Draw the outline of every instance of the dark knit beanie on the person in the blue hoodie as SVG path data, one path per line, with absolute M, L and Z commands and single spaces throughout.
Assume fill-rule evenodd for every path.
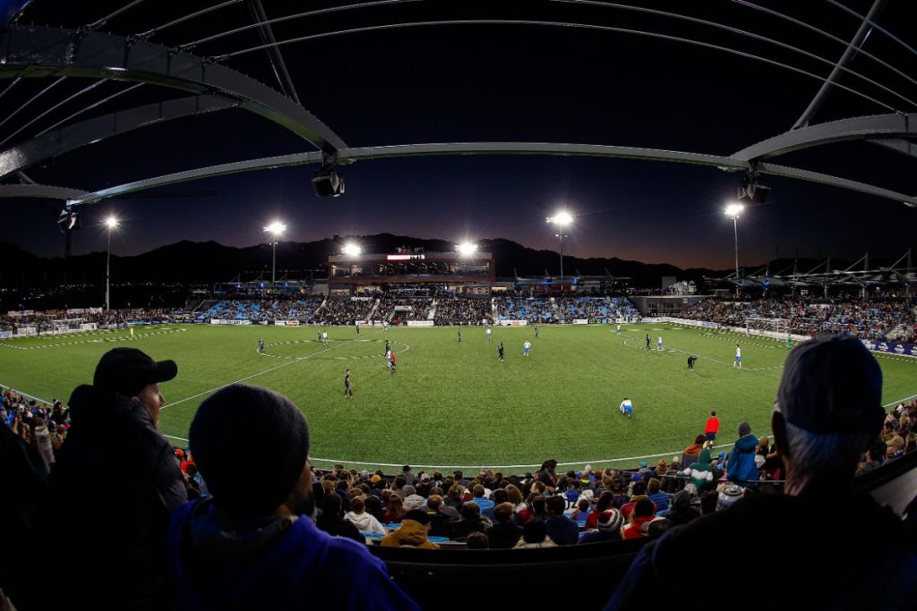
M 268 516 L 293 491 L 309 455 L 309 425 L 293 401 L 234 384 L 207 398 L 189 445 L 214 503 L 233 519 Z M 258 453 L 247 451 L 257 444 Z

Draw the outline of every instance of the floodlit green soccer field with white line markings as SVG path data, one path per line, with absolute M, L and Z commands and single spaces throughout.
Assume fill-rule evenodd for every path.
M 390 470 L 402 464 L 493 466 L 530 470 L 547 458 L 560 463 L 635 464 L 640 457 L 679 454 L 703 431 L 711 409 L 735 441 L 739 422 L 769 434 L 786 344 L 758 337 L 663 323 L 613 326 L 484 328 L 328 328 L 163 325 L 127 330 L 0 341 L 0 385 L 37 398 L 69 398 L 91 383 L 95 364 L 115 346 L 136 346 L 171 358 L 179 375 L 163 385 L 160 430 L 185 445 L 200 402 L 237 381 L 270 387 L 305 412 L 315 464 Z M 645 336 L 651 337 L 651 351 Z M 662 335 L 664 349 L 656 350 Z M 257 352 L 258 340 L 267 344 Z M 523 357 L 523 343 L 532 342 Z M 385 366 L 385 340 L 397 372 Z M 497 358 L 503 341 L 506 356 Z M 735 344 L 743 367 L 733 368 Z M 689 354 L 698 356 L 694 371 Z M 917 394 L 917 360 L 879 355 L 883 402 Z M 344 398 L 350 368 L 355 398 Z M 634 417 L 618 413 L 629 397 Z M 250 452 L 257 447 L 252 439 Z M 253 454 L 253 458 L 255 455 Z M 624 459 L 624 460 L 622 460 Z

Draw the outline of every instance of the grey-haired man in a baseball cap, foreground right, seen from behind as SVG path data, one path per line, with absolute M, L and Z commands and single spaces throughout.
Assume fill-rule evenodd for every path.
M 646 606 L 648 592 L 654 606 L 683 605 L 684 592 L 667 588 L 668 577 L 683 571 L 685 558 L 697 550 L 739 541 L 766 541 L 779 555 L 779 587 L 757 588 L 746 606 L 913 608 L 913 588 L 902 587 L 917 583 L 913 533 L 889 507 L 854 490 L 860 456 L 882 430 L 881 398 L 882 371 L 855 337 L 824 336 L 794 348 L 770 420 L 786 467 L 783 494 L 745 496 L 650 541 L 606 611 Z M 817 518 L 806 521 L 801 536 L 806 517 Z M 716 581 L 743 583 L 774 562 L 773 554 L 746 553 L 740 562 L 718 564 Z

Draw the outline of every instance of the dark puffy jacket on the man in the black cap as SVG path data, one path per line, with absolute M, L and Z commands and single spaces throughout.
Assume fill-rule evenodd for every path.
M 134 399 L 92 386 L 70 398 L 71 427 L 49 478 L 52 595 L 77 608 L 159 609 L 168 596 L 169 514 L 187 498 L 171 444 Z M 90 552 L 91 550 L 91 552 Z M 105 559 L 105 570 L 86 562 Z

